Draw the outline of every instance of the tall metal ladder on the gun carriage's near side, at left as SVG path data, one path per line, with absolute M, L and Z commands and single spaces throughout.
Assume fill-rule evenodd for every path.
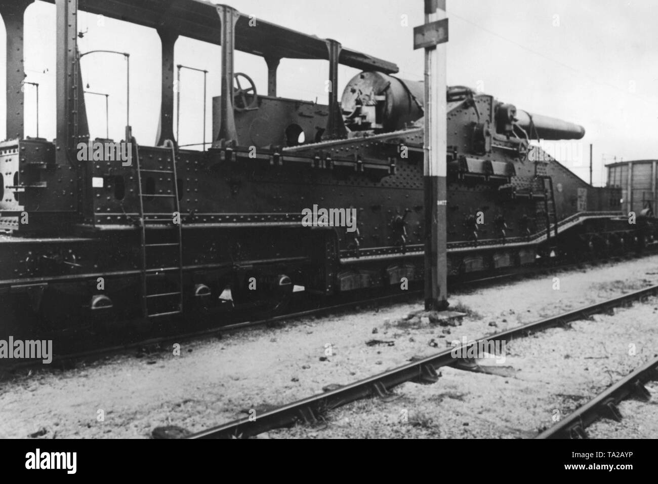
M 180 314 L 183 312 L 183 248 L 182 248 L 182 221 L 180 221 L 180 205 L 178 203 L 178 177 L 176 176 L 176 151 L 170 140 L 164 146 L 171 148 L 171 167 L 168 170 L 143 169 L 139 160 L 139 147 L 136 143 L 135 158 L 139 186 L 139 246 L 141 251 L 141 312 L 145 318 L 162 317 Z M 142 175 L 155 173 L 170 175 L 172 177 L 172 190 L 170 194 L 144 194 Z M 174 211 L 178 213 L 179 223 L 174 223 L 174 213 L 145 212 L 144 200 L 153 197 L 171 198 L 174 201 Z M 147 215 L 152 215 L 147 219 Z M 171 227 L 171 226 L 174 227 Z M 163 227 L 164 226 L 164 227 Z M 166 227 L 169 226 L 169 227 Z M 162 242 L 164 233 L 171 234 L 173 240 Z M 157 234 L 157 242 L 149 240 L 149 235 Z M 150 254 L 166 251 L 176 252 L 178 259 L 167 267 L 149 267 Z M 167 278 L 168 275 L 172 277 Z M 166 282 L 159 284 L 159 282 Z M 165 289 L 163 290 L 163 286 Z

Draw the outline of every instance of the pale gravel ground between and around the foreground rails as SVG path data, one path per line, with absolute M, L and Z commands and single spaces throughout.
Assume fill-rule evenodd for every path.
M 201 431 L 433 354 L 453 339 L 478 338 L 656 283 L 658 256 L 645 257 L 452 294 L 451 304 L 467 312 L 456 327 L 400 323 L 421 308 L 418 300 L 185 342 L 180 356 L 173 350 L 113 356 L 68 371 L 17 375 L 0 382 L 0 437 L 147 438 L 163 425 Z M 531 437 L 551 424 L 554 410 L 568 413 L 655 352 L 655 307 L 651 299 L 573 323 L 572 331 L 511 342 L 500 365 L 508 376 L 442 368 L 438 383 L 405 383 L 396 389 L 403 396 L 390 404 L 363 400 L 334 410 L 324 430 L 294 427 L 269 435 Z M 626 355 L 628 344 L 636 345 L 634 358 Z

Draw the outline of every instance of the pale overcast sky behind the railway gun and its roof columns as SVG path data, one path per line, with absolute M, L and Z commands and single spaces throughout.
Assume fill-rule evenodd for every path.
M 218 2 L 213 2 L 218 3 Z M 333 38 L 343 46 L 396 63 L 400 78 L 422 79 L 423 54 L 413 50 L 413 27 L 423 23 L 422 0 L 234 0 L 229 5 L 299 32 Z M 567 147 L 547 146 L 576 175 L 589 178 L 594 146 L 594 184 L 604 163 L 658 158 L 658 35 L 654 0 L 447 0 L 447 82 L 513 103 L 530 113 L 576 122 L 585 137 Z M 130 53 L 130 124 L 141 144 L 153 144 L 160 109 L 160 40 L 155 30 L 82 13 L 81 52 Z M 55 6 L 37 0 L 26 12 L 26 81 L 39 83 L 39 135 L 55 137 Z M 179 38 L 175 63 L 209 70 L 207 140 L 211 97 L 220 93 L 220 47 Z M 0 26 L 0 65 L 5 28 Z M 266 94 L 265 61 L 238 53 L 245 72 Z M 339 93 L 359 71 L 339 70 Z M 82 59 L 87 90 L 109 94 L 109 134 L 122 138 L 126 122 L 126 61 L 120 55 Z M 326 61 L 284 59 L 278 95 L 326 103 Z M 0 73 L 0 89 L 5 76 Z M 26 86 L 26 135 L 36 136 L 36 92 Z M 180 144 L 203 136 L 203 74 L 182 71 Z M 105 137 L 105 97 L 86 95 L 92 137 Z M 5 113 L 5 99 L 0 99 Z M 176 128 L 174 128 L 175 130 Z M 0 117 L 0 136 L 5 117 Z M 559 155 L 563 155 L 560 157 Z

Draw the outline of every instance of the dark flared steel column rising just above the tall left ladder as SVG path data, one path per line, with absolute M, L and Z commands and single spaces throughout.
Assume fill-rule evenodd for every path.
M 162 94 L 155 146 L 163 146 L 165 140 L 178 144 L 178 139 L 174 138 L 174 45 L 178 34 L 166 28 L 159 28 L 157 32 L 162 45 Z

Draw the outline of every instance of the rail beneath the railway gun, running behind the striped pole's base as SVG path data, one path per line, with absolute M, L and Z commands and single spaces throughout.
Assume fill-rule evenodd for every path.
M 653 244 L 643 254 L 653 255 L 658 254 L 658 244 Z M 619 261 L 624 261 L 627 259 L 634 259 L 638 257 L 637 255 L 619 255 L 615 257 L 602 257 L 600 259 L 590 259 L 588 261 L 575 262 L 575 263 L 555 263 L 548 264 L 540 267 L 528 266 L 517 268 L 517 270 L 509 273 L 494 273 L 486 274 L 484 277 L 478 277 L 476 279 L 468 280 L 455 280 L 453 284 L 456 288 L 473 288 L 479 286 L 488 286 L 495 282 L 501 281 L 513 281 L 518 279 L 523 279 L 525 277 L 537 277 L 542 276 L 547 273 L 554 273 L 555 271 L 569 271 L 573 269 L 581 269 L 582 267 L 595 267 L 596 265 L 601 265 L 603 263 L 615 263 Z M 131 352 L 134 350 L 144 350 L 145 352 L 157 351 L 159 348 L 164 346 L 170 346 L 174 343 L 180 343 L 190 340 L 195 340 L 198 338 L 206 338 L 210 336 L 224 335 L 227 333 L 234 333 L 243 329 L 266 326 L 266 325 L 276 325 L 284 321 L 293 321 L 301 317 L 309 316 L 321 316 L 330 313 L 338 313 L 340 311 L 348 311 L 359 306 L 368 306 L 370 304 L 395 304 L 396 302 L 401 302 L 403 300 L 412 299 L 414 297 L 419 297 L 422 295 L 422 290 L 410 289 L 404 293 L 399 294 L 387 294 L 386 296 L 378 296 L 374 298 L 350 300 L 349 302 L 342 302 L 340 304 L 332 304 L 330 306 L 320 306 L 318 308 L 311 309 L 302 309 L 299 311 L 293 311 L 291 313 L 285 313 L 281 315 L 276 315 L 272 317 L 265 317 L 261 319 L 254 319 L 252 321 L 238 321 L 236 323 L 230 323 L 228 325 L 221 325 L 206 329 L 199 329 L 197 331 L 188 331 L 186 333 L 178 333 L 175 335 L 167 334 L 163 336 L 150 337 L 146 339 L 140 339 L 131 341 L 124 344 L 115 344 L 112 346 L 104 346 L 101 348 L 93 348 L 91 350 L 84 350 L 80 352 L 70 352 L 66 354 L 59 354 L 53 357 L 53 362 L 51 367 L 66 369 L 70 367 L 75 362 L 80 361 L 92 361 L 105 356 L 111 356 L 114 354 L 121 354 L 124 352 Z M 19 369 L 43 369 L 43 365 L 36 361 L 22 361 L 18 363 L 11 363 L 11 365 L 0 365 L 0 378 L 3 377 L 3 373 L 12 373 Z

